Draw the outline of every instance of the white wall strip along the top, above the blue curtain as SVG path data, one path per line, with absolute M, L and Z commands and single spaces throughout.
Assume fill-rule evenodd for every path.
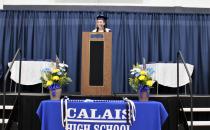
M 130 5 L 210 8 L 210 0 L 2 0 L 5 5 Z

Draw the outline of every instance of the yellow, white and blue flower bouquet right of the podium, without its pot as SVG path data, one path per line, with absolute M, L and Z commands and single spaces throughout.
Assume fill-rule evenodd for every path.
M 141 91 L 143 88 L 146 90 L 152 88 L 152 85 L 155 82 L 152 79 L 152 74 L 154 73 L 152 68 L 146 68 L 137 63 L 136 65 L 133 65 L 130 72 L 131 77 L 129 78 L 129 84 L 136 92 L 138 90 Z

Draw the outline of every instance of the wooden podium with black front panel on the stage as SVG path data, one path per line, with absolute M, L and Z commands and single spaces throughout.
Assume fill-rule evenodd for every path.
M 112 33 L 82 34 L 82 95 L 111 95 Z

